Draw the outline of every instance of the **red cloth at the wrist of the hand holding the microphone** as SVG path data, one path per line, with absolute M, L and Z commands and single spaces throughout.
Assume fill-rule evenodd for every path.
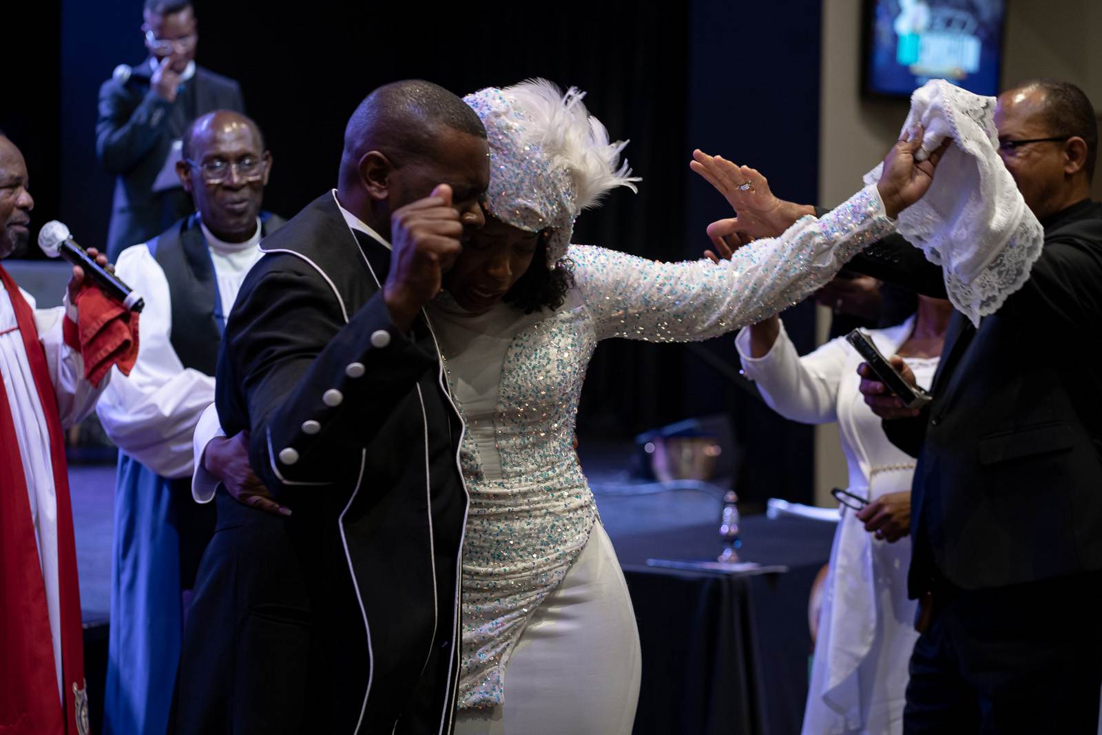
M 65 344 L 84 358 L 84 377 L 99 387 L 112 365 L 122 375 L 138 359 L 138 312 L 132 312 L 94 285 L 85 285 L 76 294 L 77 320 L 65 318 Z

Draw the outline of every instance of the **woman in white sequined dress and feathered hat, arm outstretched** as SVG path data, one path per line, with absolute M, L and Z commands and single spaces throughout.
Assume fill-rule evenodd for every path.
M 428 309 L 466 425 L 462 735 L 631 729 L 638 634 L 571 445 L 597 342 L 705 339 L 775 314 L 892 231 L 937 159 L 916 164 L 904 141 L 878 185 L 821 219 L 721 264 L 659 263 L 569 245 L 583 208 L 636 181 L 580 99 L 539 80 L 466 98 L 489 137 L 486 227 Z

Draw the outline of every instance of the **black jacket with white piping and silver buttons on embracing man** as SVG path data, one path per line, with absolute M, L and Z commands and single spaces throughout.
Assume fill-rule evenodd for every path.
M 181 733 L 449 733 L 466 494 L 428 323 L 396 329 L 390 251 L 333 193 L 264 238 L 217 406 L 289 506 L 219 490 L 185 631 Z

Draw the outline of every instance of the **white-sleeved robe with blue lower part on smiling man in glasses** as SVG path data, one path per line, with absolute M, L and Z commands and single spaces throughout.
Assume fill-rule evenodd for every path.
M 224 242 L 199 223 L 216 282 L 216 318 L 228 314 L 249 269 L 262 253 L 258 220 L 244 242 Z M 162 236 L 162 238 L 165 236 Z M 181 515 L 172 480 L 193 469 L 192 435 L 214 401 L 215 376 L 185 367 L 173 346 L 170 280 L 155 244 L 127 248 L 119 277 L 145 299 L 138 361 L 116 375 L 97 411 L 120 450 L 115 494 L 111 635 L 105 692 L 105 735 L 164 732 L 183 637 L 182 560 L 199 539 Z M 179 273 L 173 275 L 179 277 Z M 186 564 L 183 564 L 186 565 Z

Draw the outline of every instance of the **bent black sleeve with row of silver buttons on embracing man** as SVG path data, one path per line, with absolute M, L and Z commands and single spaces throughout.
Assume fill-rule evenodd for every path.
M 293 270 L 246 282 L 224 345 L 247 403 L 249 458 L 277 494 L 358 469 L 361 448 L 395 407 L 439 369 L 434 354 L 393 326 L 381 291 L 345 324 L 321 279 Z

